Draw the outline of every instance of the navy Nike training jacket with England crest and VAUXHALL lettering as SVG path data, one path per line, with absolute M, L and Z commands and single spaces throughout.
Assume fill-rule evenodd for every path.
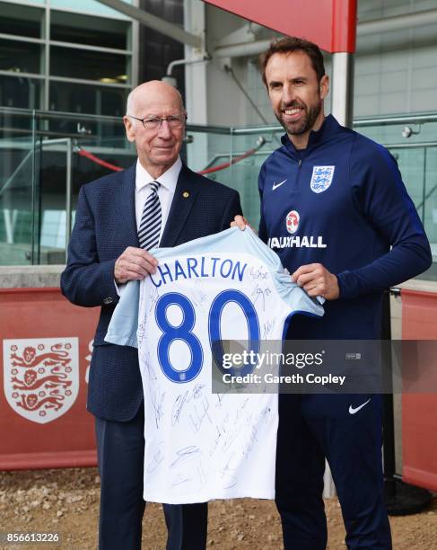
M 289 339 L 380 338 L 382 291 L 427 270 L 424 226 L 387 149 L 329 115 L 303 151 L 289 137 L 261 167 L 259 236 L 293 273 L 322 263 L 340 297 Z

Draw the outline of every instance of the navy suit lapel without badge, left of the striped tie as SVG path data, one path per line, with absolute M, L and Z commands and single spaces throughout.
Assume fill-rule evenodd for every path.
M 122 181 L 119 184 L 118 215 L 121 236 L 126 246 L 139 246 L 138 232 L 136 230 L 135 218 L 135 174 L 136 164 L 127 168 L 121 175 Z

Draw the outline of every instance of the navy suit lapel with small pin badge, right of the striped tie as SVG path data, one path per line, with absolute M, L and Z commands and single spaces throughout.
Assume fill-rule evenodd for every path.
M 169 217 L 162 234 L 160 244 L 162 247 L 176 244 L 180 232 L 187 223 L 188 214 L 197 199 L 198 185 L 194 178 L 190 177 L 190 173 L 191 171 L 183 164 L 176 184 L 176 191 L 171 201 Z

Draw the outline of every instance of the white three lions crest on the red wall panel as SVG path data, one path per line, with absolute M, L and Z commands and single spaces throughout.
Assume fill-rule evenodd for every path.
M 65 414 L 79 391 L 77 338 L 4 340 L 4 395 L 15 412 L 45 424 Z

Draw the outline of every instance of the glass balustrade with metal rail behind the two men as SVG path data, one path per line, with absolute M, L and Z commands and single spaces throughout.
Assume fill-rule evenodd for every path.
M 397 157 L 430 240 L 437 243 L 437 113 L 358 119 L 354 128 L 387 146 Z M 283 131 L 276 124 L 239 128 L 188 123 L 183 154 L 197 170 L 229 164 L 218 172 L 219 178 L 240 191 L 243 208 L 252 212 L 253 218 L 258 212 L 254 181 L 259 165 L 278 146 Z M 255 150 L 257 139 L 263 143 Z M 48 262 L 48 253 L 53 251 L 41 235 L 45 235 L 44 217 L 50 209 L 65 212 L 62 231 L 59 227 L 51 230 L 61 232 L 64 243 L 68 240 L 81 184 L 107 173 L 87 158 L 80 159 L 75 154 L 77 145 L 109 164 L 127 167 L 135 160 L 135 149 L 127 142 L 118 117 L 0 108 L 0 263 L 15 262 L 9 245 L 26 251 L 23 263 Z M 253 154 L 245 155 L 251 148 Z M 239 156 L 243 159 L 235 164 Z M 58 178 L 61 170 L 64 185 Z M 62 252 L 59 242 L 53 249 Z

